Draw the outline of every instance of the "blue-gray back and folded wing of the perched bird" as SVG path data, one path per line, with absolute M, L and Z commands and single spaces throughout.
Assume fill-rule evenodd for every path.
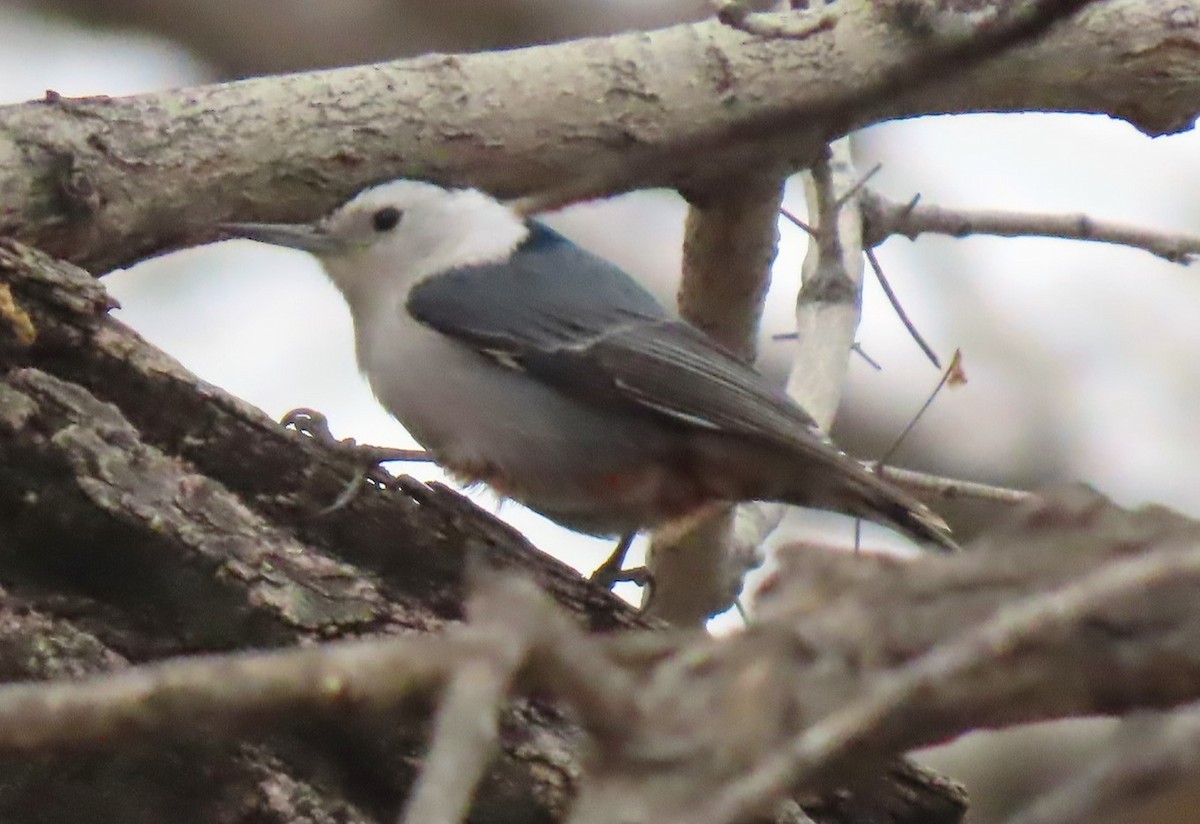
M 506 263 L 425 281 L 407 308 L 498 363 L 593 403 L 790 445 L 824 441 L 774 384 L 672 319 L 620 269 L 538 223 Z

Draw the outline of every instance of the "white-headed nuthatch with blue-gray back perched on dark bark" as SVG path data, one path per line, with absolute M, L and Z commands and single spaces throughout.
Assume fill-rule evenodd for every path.
M 476 188 L 394 180 L 314 223 L 227 223 L 341 291 L 379 403 L 452 477 L 619 537 L 769 500 L 952 549 L 928 506 L 630 275 Z

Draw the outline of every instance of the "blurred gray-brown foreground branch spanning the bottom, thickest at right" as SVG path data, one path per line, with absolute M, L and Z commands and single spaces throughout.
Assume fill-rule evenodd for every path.
M 574 705 L 599 751 L 581 776 L 572 822 L 726 824 L 980 726 L 1200 696 L 1200 619 L 1192 608 L 1200 523 L 1153 507 L 1122 511 L 1075 488 L 1042 495 L 973 549 L 896 563 L 797 547 L 766 590 L 762 624 L 724 639 L 590 639 L 528 584 L 499 577 L 481 591 L 492 605 L 485 620 L 419 639 L 427 646 L 420 656 L 407 654 L 414 642 L 383 639 L 160 664 L 54 685 L 61 692 L 47 702 L 31 699 L 35 687 L 2 687 L 0 742 L 20 741 L 30 727 L 66 742 L 65 721 L 80 708 L 91 717 L 132 710 L 151 718 L 140 735 L 191 727 L 221 715 L 220 706 L 241 721 L 314 704 L 382 708 L 427 678 L 409 673 L 446 679 L 491 660 L 498 619 L 510 617 L 510 650 L 528 644 L 530 652 L 523 688 Z M 580 655 L 580 646 L 590 649 Z M 408 649 L 397 657 L 389 648 Z M 329 668 L 313 669 L 322 658 Z M 391 666 L 368 663 L 376 658 Z M 612 723 L 596 694 L 630 702 L 626 723 Z M 202 703 L 187 714 L 184 697 Z M 173 723 L 155 716 L 162 708 Z M 89 729 L 82 726 L 79 738 Z

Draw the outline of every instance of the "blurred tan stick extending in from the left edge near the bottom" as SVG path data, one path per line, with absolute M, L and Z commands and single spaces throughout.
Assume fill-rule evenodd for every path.
M 198 723 L 235 729 L 259 716 L 372 709 L 425 694 L 485 651 L 463 632 L 316 649 L 167 661 L 88 681 L 0 687 L 0 750 L 34 752 Z

